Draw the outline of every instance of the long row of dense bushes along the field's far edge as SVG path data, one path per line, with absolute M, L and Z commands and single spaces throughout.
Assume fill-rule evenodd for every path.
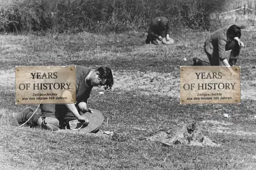
M 2 3 L 0 30 L 122 32 L 146 29 L 156 16 L 172 27 L 211 28 L 210 14 L 228 0 L 11 0 Z M 216 22 L 214 22 L 216 23 Z

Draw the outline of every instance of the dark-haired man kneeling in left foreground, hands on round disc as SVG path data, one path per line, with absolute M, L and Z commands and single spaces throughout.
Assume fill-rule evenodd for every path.
M 112 71 L 108 67 L 90 69 L 76 66 L 76 104 L 40 104 L 41 115 L 33 115 L 33 109 L 26 108 L 13 118 L 12 125 L 20 126 L 28 120 L 27 124 L 30 127 L 59 130 L 70 129 L 70 122 L 74 122 L 74 120 L 77 120 L 77 124 L 79 122 L 88 124 L 88 118 L 80 113 L 91 112 L 93 114 L 94 112 L 87 107 L 92 88 L 104 86 L 106 90 L 111 89 L 113 84 Z M 71 95 L 71 92 L 66 90 L 63 94 L 67 96 Z

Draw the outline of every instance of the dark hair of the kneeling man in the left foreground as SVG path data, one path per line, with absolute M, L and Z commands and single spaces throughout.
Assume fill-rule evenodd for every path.
M 96 69 L 96 71 L 99 71 L 99 78 L 106 79 L 106 83 L 104 86 L 104 89 L 111 89 L 114 84 L 114 79 L 112 75 L 112 71 L 109 67 L 99 67 Z

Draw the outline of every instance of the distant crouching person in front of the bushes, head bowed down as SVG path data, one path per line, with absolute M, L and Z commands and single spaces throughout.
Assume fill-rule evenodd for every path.
M 171 31 L 169 21 L 166 17 L 156 17 L 151 21 L 150 28 L 147 31 L 146 43 L 150 44 L 172 44 L 174 40 L 169 37 Z

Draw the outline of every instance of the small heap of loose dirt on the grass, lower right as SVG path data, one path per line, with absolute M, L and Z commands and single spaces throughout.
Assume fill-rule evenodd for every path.
M 170 131 L 159 131 L 157 134 L 147 139 L 160 141 L 163 145 L 185 144 L 197 145 L 200 147 L 220 147 L 220 144 L 211 141 L 207 136 L 203 135 L 200 126 L 194 120 L 184 124 L 173 133 Z

